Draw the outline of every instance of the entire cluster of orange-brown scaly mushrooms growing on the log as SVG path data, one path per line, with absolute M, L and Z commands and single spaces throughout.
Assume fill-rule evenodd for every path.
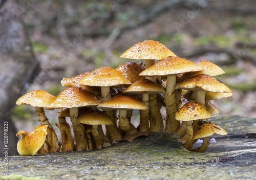
M 219 113 L 210 100 L 232 95 L 225 84 L 211 77 L 224 73 L 219 66 L 178 57 L 154 40 L 139 42 L 120 57 L 145 59 L 145 64 L 126 62 L 116 69 L 104 66 L 63 78 L 61 84 L 66 88 L 56 97 L 42 90 L 20 97 L 16 104 L 34 106 L 41 125 L 29 133 L 17 133 L 22 134 L 18 152 L 34 155 L 101 149 L 118 143 L 124 136 L 157 131 L 177 133 L 187 150 L 204 152 L 212 134 L 227 134 L 219 125 L 207 121 Z M 165 118 L 160 112 L 162 107 L 166 109 Z M 60 142 L 44 108 L 59 109 L 56 126 Z M 133 109 L 140 111 L 138 127 L 131 122 Z M 66 117 L 71 120 L 73 136 Z M 199 138 L 204 140 L 202 146 L 193 149 Z

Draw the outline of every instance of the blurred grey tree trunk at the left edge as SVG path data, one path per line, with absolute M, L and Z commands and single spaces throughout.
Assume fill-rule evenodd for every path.
M 0 144 L 3 147 L 3 121 L 8 121 L 8 146 L 16 144 L 15 127 L 8 119 L 16 100 L 39 73 L 40 68 L 31 49 L 21 16 L 22 4 L 0 0 Z M 12 133 L 11 133 L 12 132 Z M 13 135 L 13 136 L 11 136 Z M 15 147 L 15 146 L 14 146 Z M 15 154 L 16 148 L 9 150 Z M 1 150 L 3 153 L 3 150 Z M 3 156 L 3 154 L 0 154 Z

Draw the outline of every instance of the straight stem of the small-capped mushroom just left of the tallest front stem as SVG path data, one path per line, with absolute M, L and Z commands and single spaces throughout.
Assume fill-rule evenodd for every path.
M 146 110 L 140 110 L 140 125 L 139 131 L 140 132 L 148 132 L 150 126 L 148 124 L 149 120 L 149 109 L 150 109 L 150 98 L 148 94 L 141 95 L 141 101 L 147 106 Z

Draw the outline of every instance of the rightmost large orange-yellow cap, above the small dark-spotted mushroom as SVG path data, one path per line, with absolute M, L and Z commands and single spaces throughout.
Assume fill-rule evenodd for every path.
M 177 83 L 175 88 L 182 88 L 190 91 L 204 90 L 217 93 L 231 93 L 228 86 L 217 79 L 204 74 L 199 74 L 197 76 L 185 79 L 184 81 Z

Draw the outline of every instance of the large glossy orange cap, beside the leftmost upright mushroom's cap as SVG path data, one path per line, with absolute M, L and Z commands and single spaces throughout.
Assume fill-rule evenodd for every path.
M 68 87 L 61 91 L 48 108 L 71 108 L 98 105 L 101 102 L 81 87 Z

